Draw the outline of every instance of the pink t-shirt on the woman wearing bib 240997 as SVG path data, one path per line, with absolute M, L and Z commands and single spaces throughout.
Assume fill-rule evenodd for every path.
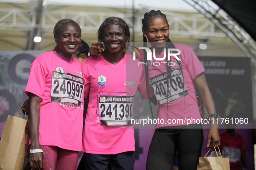
M 81 151 L 84 106 L 83 91 L 80 88 L 83 85 L 81 63 L 73 58 L 69 62 L 64 59 L 55 51 L 39 55 L 31 65 L 26 94 L 30 92 L 42 98 L 39 113 L 40 145 Z M 58 79 L 61 75 L 65 79 Z M 81 80 L 81 83 L 75 82 L 73 77 Z M 75 86 L 79 86 L 79 90 Z M 51 102 L 53 93 L 56 100 L 58 99 L 56 94 L 70 93 L 72 95 L 74 93 L 72 87 L 75 89 L 75 95 L 82 98 L 80 107 L 73 103 Z

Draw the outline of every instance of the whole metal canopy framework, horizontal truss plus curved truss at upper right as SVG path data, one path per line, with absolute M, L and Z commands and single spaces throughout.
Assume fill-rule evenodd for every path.
M 231 39 L 256 66 L 255 41 L 237 22 L 211 0 L 184 1 L 197 9 L 199 14 L 191 11 L 162 10 L 168 19 L 170 33 L 173 37 L 195 38 L 198 41 Z M 49 10 L 47 4 L 42 4 L 43 2 L 33 0 L 30 9 L 0 8 L 0 30 L 27 31 L 27 50 L 33 50 L 35 49 L 35 45 L 31 42 L 33 37 L 42 35 L 44 38 L 43 33 L 52 32 L 55 23 L 60 19 L 71 18 L 78 22 L 84 33 L 95 33 L 104 19 L 117 16 L 125 20 L 131 32 L 134 31 L 135 35 L 141 35 L 141 19 L 143 14 L 149 11 L 147 8 L 130 10 L 132 13 Z

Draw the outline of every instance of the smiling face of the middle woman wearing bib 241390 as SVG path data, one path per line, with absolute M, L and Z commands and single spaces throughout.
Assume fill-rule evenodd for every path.
M 123 52 L 125 44 L 125 34 L 123 29 L 116 24 L 109 24 L 103 31 L 104 44 L 107 47 L 107 52 L 117 53 Z

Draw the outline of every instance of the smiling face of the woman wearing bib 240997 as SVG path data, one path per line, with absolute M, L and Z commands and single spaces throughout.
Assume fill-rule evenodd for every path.
M 60 27 L 58 35 L 55 35 L 55 42 L 58 43 L 58 54 L 71 58 L 81 44 L 81 32 L 78 25 L 70 23 Z

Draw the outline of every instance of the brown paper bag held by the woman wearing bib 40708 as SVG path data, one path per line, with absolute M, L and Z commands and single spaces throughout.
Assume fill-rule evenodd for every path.
M 211 151 L 211 149 L 209 151 Z M 207 152 L 207 154 L 209 153 L 209 151 Z M 199 164 L 197 170 L 230 170 L 229 158 L 222 158 L 221 156 L 206 157 L 206 155 L 204 157 L 199 157 Z

